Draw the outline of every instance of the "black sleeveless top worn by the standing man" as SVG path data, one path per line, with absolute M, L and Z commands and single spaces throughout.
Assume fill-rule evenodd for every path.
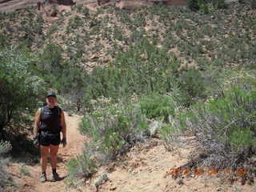
M 43 106 L 41 108 L 41 125 L 39 130 L 47 130 L 51 134 L 58 134 L 62 130 L 60 124 L 61 113 L 62 109 L 58 106 L 54 106 L 54 108 Z

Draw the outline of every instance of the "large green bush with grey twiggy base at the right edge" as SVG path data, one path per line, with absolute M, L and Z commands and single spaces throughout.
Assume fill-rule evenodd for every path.
M 187 143 L 204 150 L 202 166 L 216 169 L 237 168 L 255 154 L 255 80 L 246 79 L 223 90 L 221 98 L 194 106 L 177 116 L 166 134 L 166 141 Z M 186 114 L 186 115 L 185 115 Z M 166 131 L 166 130 L 165 130 Z M 184 139 L 184 133 L 193 139 Z

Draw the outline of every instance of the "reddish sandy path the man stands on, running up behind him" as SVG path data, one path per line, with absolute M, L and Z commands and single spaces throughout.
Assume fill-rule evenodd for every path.
M 86 142 L 86 137 L 79 133 L 78 126 L 81 122 L 81 117 L 78 115 L 68 116 L 65 114 L 66 125 L 67 125 L 67 145 L 65 148 L 60 146 L 58 152 L 58 174 L 60 177 L 65 178 L 67 175 L 66 171 L 66 162 L 70 160 L 70 158 L 76 157 L 78 154 L 82 153 L 82 147 Z M 29 176 L 21 177 L 18 173 L 20 171 L 21 165 L 18 163 L 14 163 L 10 166 L 10 170 L 14 174 L 14 181 L 18 182 L 18 192 L 60 192 L 66 191 L 66 185 L 62 181 L 58 182 L 38 182 L 38 178 L 41 174 L 41 167 L 38 163 L 35 166 L 26 166 L 30 172 Z M 51 168 L 50 162 L 48 163 L 46 174 L 48 178 L 50 177 Z M 15 177 L 16 176 L 16 177 Z M 12 190 L 10 190 L 12 191 Z

